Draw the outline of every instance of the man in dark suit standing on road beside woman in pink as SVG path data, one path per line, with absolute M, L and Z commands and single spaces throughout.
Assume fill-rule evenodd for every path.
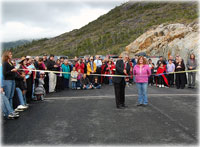
M 124 56 L 124 59 L 119 59 L 116 62 L 115 75 L 129 75 L 130 64 L 128 63 L 128 55 Z M 115 89 L 115 100 L 116 107 L 118 109 L 124 109 L 125 105 L 125 77 L 113 77 L 114 89 Z

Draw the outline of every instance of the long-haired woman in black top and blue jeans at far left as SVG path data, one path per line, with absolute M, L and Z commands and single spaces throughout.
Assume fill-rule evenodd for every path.
M 15 92 L 15 75 L 17 69 L 12 64 L 12 53 L 5 51 L 2 55 L 3 81 L 5 96 L 9 99 L 11 108 L 13 108 L 13 96 Z

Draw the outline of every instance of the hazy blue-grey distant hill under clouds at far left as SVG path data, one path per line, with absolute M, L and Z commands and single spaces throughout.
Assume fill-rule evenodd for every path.
M 11 42 L 3 42 L 2 48 L 3 50 L 16 48 L 17 46 L 22 46 L 24 44 L 30 43 L 31 40 L 18 40 L 18 41 L 11 41 Z

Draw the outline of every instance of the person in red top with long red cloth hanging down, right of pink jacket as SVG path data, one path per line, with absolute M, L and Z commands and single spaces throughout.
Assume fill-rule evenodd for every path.
M 161 62 L 160 66 L 157 69 L 157 73 L 156 73 L 156 75 L 158 76 L 158 78 L 157 78 L 158 86 L 160 88 L 165 87 L 164 86 L 165 84 L 169 87 L 168 80 L 167 80 L 167 77 L 165 74 L 166 72 L 167 72 L 166 65 L 164 65 L 163 62 Z

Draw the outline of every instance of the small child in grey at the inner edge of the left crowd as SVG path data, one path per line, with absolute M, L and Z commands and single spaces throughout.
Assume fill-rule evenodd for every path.
M 35 83 L 35 96 L 37 98 L 37 100 L 44 100 L 44 95 L 45 95 L 45 89 L 44 89 L 44 77 L 45 77 L 45 73 L 44 72 L 40 72 L 40 78 L 38 80 L 36 80 Z

